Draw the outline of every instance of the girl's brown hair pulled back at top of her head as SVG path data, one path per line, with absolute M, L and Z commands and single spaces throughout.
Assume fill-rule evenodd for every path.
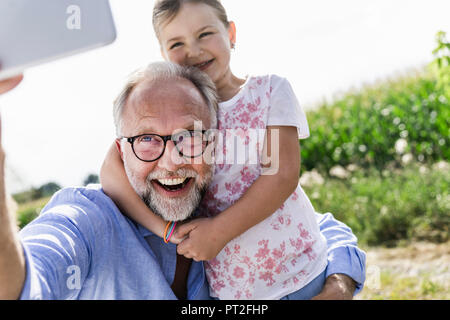
M 158 38 L 161 24 L 170 22 L 185 3 L 203 3 L 212 7 L 225 27 L 228 29 L 230 26 L 225 8 L 219 0 L 157 0 L 153 8 L 153 29 Z

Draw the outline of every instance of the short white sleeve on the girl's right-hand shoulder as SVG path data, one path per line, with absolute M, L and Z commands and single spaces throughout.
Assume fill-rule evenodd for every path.
M 298 138 L 309 137 L 309 126 L 291 84 L 285 78 L 272 76 L 270 81 L 270 108 L 268 126 L 292 126 L 298 129 Z

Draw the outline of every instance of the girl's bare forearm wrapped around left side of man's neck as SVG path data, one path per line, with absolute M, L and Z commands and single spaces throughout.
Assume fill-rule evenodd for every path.
M 103 162 L 100 181 L 103 191 L 114 201 L 122 213 L 159 237 L 163 237 L 167 222 L 153 213 L 134 191 L 115 144 L 111 146 Z M 176 237 L 172 237 L 171 241 L 179 242 Z

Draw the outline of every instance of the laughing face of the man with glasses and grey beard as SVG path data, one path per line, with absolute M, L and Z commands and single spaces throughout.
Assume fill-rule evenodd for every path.
M 131 93 L 122 115 L 122 135 L 168 136 L 193 130 L 195 122 L 210 127 L 208 107 L 194 85 L 186 79 L 144 81 Z M 184 158 L 173 141 L 155 162 L 143 162 L 131 144 L 118 144 L 131 185 L 147 206 L 166 221 L 187 219 L 200 203 L 211 182 L 213 166 Z

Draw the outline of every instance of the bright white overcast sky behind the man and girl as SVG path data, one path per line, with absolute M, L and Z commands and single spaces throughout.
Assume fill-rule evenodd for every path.
M 33 67 L 0 96 L 10 192 L 78 186 L 113 143 L 112 102 L 129 73 L 162 60 L 151 0 L 111 0 L 117 40 Z M 286 77 L 308 110 L 340 92 L 420 68 L 450 37 L 448 0 L 222 0 L 237 26 L 231 67 Z

